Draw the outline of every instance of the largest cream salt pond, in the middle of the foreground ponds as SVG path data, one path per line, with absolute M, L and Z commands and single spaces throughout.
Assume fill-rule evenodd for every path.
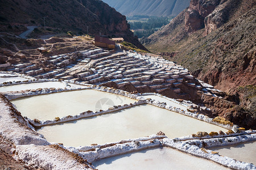
M 61 125 L 45 126 L 38 132 L 49 142 L 64 143 L 65 146 L 86 146 L 146 137 L 160 130 L 169 138 L 197 131 L 227 131 L 195 118 L 144 104 Z

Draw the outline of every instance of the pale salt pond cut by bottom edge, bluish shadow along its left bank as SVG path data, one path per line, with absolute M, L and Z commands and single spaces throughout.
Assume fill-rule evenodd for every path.
M 154 148 L 93 163 L 97 169 L 228 169 L 172 148 Z

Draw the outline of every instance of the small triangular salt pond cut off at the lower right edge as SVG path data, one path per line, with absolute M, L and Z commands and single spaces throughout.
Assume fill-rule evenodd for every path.
M 241 143 L 232 146 L 210 147 L 209 150 L 219 152 L 222 156 L 256 165 L 256 142 Z

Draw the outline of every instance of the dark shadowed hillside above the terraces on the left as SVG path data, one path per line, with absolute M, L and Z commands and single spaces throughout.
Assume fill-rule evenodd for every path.
M 0 32 L 18 33 L 42 25 L 89 35 L 122 36 L 143 48 L 129 30 L 126 17 L 100 0 L 0 0 Z M 88 28 L 88 29 L 87 29 Z

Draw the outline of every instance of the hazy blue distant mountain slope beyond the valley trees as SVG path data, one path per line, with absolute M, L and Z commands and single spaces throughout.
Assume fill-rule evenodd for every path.
M 190 0 L 103 0 L 123 15 L 176 16 Z

